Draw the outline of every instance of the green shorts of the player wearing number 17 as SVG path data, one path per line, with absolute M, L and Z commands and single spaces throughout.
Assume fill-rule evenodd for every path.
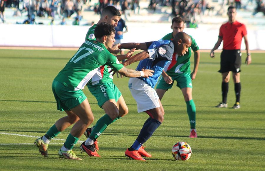
M 52 92 L 57 102 L 57 110 L 70 111 L 80 105 L 87 97 L 82 90 L 73 91 L 62 83 L 53 80 Z

